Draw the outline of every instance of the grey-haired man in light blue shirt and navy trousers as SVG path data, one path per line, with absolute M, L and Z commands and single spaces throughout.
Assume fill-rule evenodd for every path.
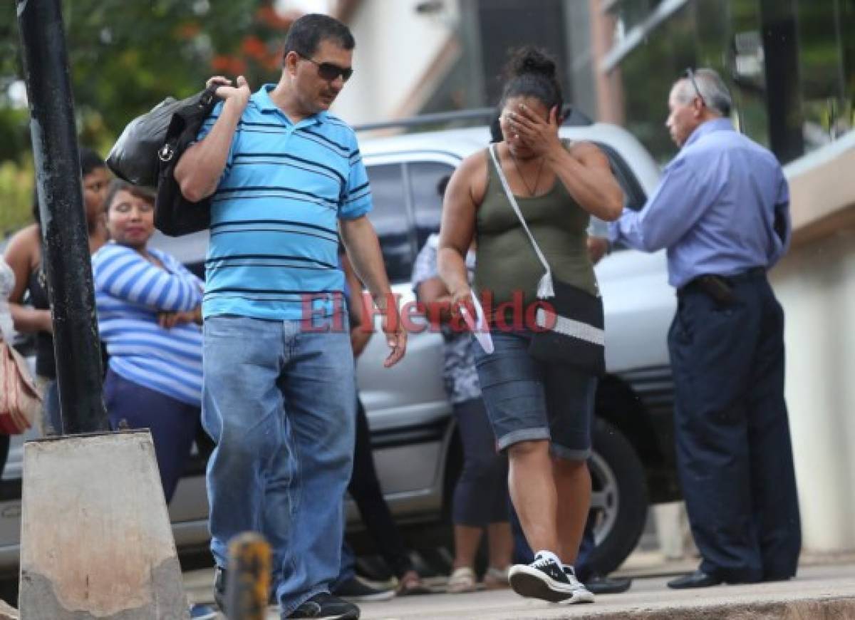
M 710 69 L 687 71 L 666 123 L 681 151 L 613 243 L 668 249 L 681 485 L 702 562 L 671 588 L 795 575 L 799 501 L 784 401 L 783 310 L 766 280 L 787 251 L 789 192 L 769 151 L 734 131 Z

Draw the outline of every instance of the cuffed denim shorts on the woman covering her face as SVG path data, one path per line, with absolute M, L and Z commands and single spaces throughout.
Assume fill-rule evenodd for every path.
M 597 379 L 528 354 L 531 334 L 492 332 L 495 351 L 475 345 L 475 365 L 498 447 L 520 441 L 550 440 L 559 458 L 591 456 L 591 423 Z

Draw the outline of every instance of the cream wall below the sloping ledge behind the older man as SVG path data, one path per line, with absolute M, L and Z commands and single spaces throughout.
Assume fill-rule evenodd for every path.
M 806 550 L 855 549 L 855 227 L 770 274 L 787 313 L 787 404 Z

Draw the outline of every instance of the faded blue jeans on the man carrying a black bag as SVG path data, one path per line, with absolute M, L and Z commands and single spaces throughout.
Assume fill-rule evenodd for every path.
M 339 575 L 345 488 L 354 444 L 354 369 L 347 330 L 299 321 L 213 316 L 204 322 L 202 421 L 211 552 L 248 530 L 274 552 L 274 584 L 290 613 Z

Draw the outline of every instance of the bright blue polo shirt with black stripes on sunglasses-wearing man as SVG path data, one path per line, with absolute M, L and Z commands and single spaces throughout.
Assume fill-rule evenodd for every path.
M 250 98 L 213 197 L 206 317 L 308 318 L 304 304 L 313 298 L 315 316 L 330 316 L 333 295 L 345 286 L 338 218 L 371 210 L 353 129 L 327 112 L 295 125 L 270 100 L 273 88 L 262 86 Z M 214 127 L 221 107 L 198 139 Z

